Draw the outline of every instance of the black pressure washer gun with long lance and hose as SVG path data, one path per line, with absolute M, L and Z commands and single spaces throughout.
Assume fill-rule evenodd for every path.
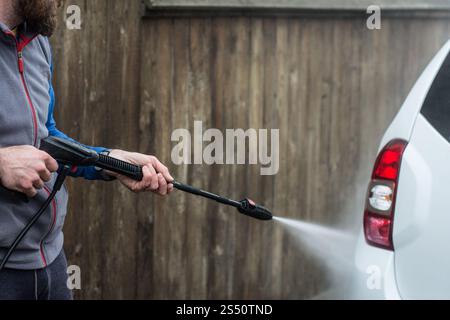
M 42 214 L 46 211 L 50 203 L 53 201 L 54 197 L 58 191 L 62 188 L 64 180 L 67 175 L 71 172 L 72 168 L 83 167 L 83 166 L 95 166 L 107 171 L 115 172 L 120 175 L 129 177 L 136 181 L 141 181 L 143 179 L 142 167 L 134 165 L 128 162 L 121 161 L 119 159 L 99 154 L 94 150 L 88 149 L 76 142 L 61 139 L 57 137 L 48 137 L 41 141 L 42 151 L 47 152 L 52 156 L 59 164 L 60 168 L 58 170 L 58 178 L 56 179 L 53 191 L 50 193 L 48 199 L 41 206 L 38 212 L 33 216 L 30 222 L 25 226 L 25 228 L 20 232 L 15 241 L 12 243 L 11 247 L 8 249 L 3 261 L 0 264 L 0 271 L 3 270 L 9 258 L 11 257 L 14 250 L 26 236 L 28 231 L 33 227 L 33 225 L 39 220 Z M 178 181 L 171 182 L 174 188 L 184 191 L 196 196 L 201 196 L 210 200 L 217 201 L 221 204 L 232 206 L 238 211 L 246 216 L 258 219 L 258 220 L 272 220 L 272 213 L 256 204 L 250 199 L 244 199 L 242 201 L 235 201 L 228 199 L 211 192 L 200 190 L 192 186 L 180 183 Z M 24 194 L 10 191 L 14 193 L 17 197 L 22 200 L 27 201 Z

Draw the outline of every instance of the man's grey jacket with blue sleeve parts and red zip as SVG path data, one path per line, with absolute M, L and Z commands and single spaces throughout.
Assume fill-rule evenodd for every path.
M 52 58 L 47 38 L 19 28 L 17 36 L 0 23 L 0 148 L 32 145 L 49 135 L 68 138 L 56 128 L 51 85 Z M 98 152 L 104 148 L 93 148 Z M 79 168 L 74 176 L 101 179 L 95 168 Z M 56 174 L 28 203 L 0 189 L 0 259 L 45 202 Z M 63 246 L 67 212 L 64 187 L 11 256 L 7 268 L 32 270 L 51 264 Z

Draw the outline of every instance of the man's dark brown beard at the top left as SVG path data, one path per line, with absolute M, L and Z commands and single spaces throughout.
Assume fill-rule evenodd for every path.
M 50 37 L 56 28 L 58 0 L 17 0 L 17 13 L 27 30 Z

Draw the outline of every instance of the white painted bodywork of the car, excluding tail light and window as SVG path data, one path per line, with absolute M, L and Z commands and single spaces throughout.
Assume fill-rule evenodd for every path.
M 361 232 L 351 298 L 450 298 L 450 144 L 419 114 L 449 51 L 450 41 L 417 80 L 380 144 L 379 151 L 393 139 L 410 142 L 395 210 L 396 249 L 369 246 Z M 367 286 L 370 266 L 382 272 L 379 290 Z

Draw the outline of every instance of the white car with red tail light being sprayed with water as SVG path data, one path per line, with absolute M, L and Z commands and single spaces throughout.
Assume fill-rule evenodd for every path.
M 450 299 L 450 41 L 387 130 L 367 193 L 353 299 Z

